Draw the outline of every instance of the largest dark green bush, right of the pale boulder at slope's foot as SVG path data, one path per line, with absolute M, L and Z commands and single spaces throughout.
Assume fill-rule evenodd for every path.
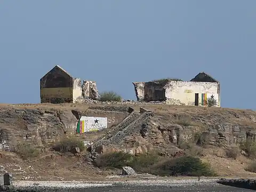
M 214 176 L 215 172 L 209 164 L 203 163 L 198 157 L 183 156 L 171 158 L 151 169 L 152 174 L 172 176 Z

